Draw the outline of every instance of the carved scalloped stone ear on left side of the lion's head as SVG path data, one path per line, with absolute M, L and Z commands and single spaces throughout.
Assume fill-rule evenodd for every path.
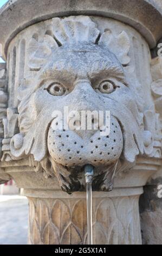
M 30 70 L 39 71 L 51 54 L 52 48 L 59 47 L 50 35 L 44 35 L 43 41 L 38 42 L 32 38 L 28 48 L 28 65 Z

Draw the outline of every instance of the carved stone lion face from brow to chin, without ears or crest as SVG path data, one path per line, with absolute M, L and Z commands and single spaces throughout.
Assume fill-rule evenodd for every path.
M 41 68 L 34 61 L 33 66 L 36 77 L 20 87 L 21 133 L 11 140 L 12 154 L 33 154 L 48 174 L 55 172 L 67 192 L 83 189 L 82 168 L 92 164 L 96 168 L 94 187 L 110 190 L 121 154 L 133 162 L 143 147 L 135 94 L 119 58 L 104 44 L 66 42 L 51 48 Z M 101 136 L 101 127 L 78 130 L 76 118 L 75 130 L 56 129 L 62 120 L 54 113 L 64 113 L 65 106 L 69 113 L 110 111 L 109 135 Z M 72 118 L 67 115 L 66 122 Z

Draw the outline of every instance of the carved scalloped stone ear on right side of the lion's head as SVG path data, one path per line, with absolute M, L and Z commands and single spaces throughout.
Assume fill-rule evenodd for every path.
M 113 52 L 124 66 L 128 65 L 130 58 L 128 52 L 131 46 L 129 36 L 122 31 L 118 36 L 114 36 L 110 30 L 101 35 L 99 44 L 106 45 L 109 51 Z

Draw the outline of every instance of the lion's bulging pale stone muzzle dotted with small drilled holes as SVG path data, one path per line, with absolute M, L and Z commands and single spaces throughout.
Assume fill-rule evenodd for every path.
M 119 159 L 122 148 L 120 125 L 113 117 L 107 136 L 101 136 L 100 130 L 97 130 L 89 139 L 83 139 L 73 130 L 54 130 L 52 124 L 48 132 L 50 156 L 67 167 L 112 164 Z

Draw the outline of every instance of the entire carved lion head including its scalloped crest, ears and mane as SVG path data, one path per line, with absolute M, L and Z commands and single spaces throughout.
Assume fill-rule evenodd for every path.
M 130 41 L 126 32 L 100 33 L 87 16 L 51 20 L 42 41 L 30 40 L 30 76 L 18 89 L 20 133 L 12 137 L 15 159 L 33 155 L 47 176 L 57 176 L 66 192 L 84 190 L 83 166 L 95 167 L 94 190 L 109 191 L 116 164 L 150 155 L 142 87 L 129 81 Z M 132 79 L 131 79 L 132 81 Z M 54 111 L 110 111 L 108 136 L 98 130 L 55 130 Z M 58 122 L 58 120 L 57 120 Z M 147 123 L 147 122 L 146 122 Z

